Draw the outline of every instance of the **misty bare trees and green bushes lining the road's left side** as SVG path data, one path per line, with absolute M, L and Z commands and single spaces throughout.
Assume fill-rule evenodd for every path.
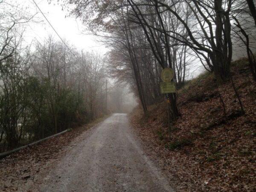
M 118 110 L 123 94 L 100 53 L 54 35 L 27 42 L 29 24 L 41 21 L 26 9 L 0 0 L 0 153 Z

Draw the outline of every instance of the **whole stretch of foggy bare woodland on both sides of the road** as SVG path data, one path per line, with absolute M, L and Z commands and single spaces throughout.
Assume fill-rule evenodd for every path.
M 26 24 L 40 22 L 38 12 L 1 0 L 1 151 L 110 112 L 131 112 L 137 104 L 147 113 L 166 99 L 160 93 L 166 67 L 174 70 L 177 89 L 205 70 L 223 84 L 232 80 L 232 59 L 243 52 L 255 79 L 250 0 L 50 2 L 81 20 L 108 51 L 81 50 L 50 34 L 25 43 Z M 168 99 L 175 120 L 178 95 Z

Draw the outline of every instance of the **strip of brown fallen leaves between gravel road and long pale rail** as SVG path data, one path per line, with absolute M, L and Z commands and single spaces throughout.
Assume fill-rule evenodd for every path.
M 0 160 L 0 191 L 27 191 L 30 186 L 40 183 L 41 177 L 66 154 L 67 145 L 91 126 L 93 124 L 75 128 Z

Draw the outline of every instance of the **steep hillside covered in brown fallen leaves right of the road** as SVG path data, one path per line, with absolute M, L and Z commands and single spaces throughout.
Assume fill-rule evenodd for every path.
M 217 86 L 212 73 L 178 90 L 181 116 L 168 137 L 166 101 L 131 116 L 148 154 L 181 191 L 255 190 L 256 86 L 247 59 L 232 63 L 233 83 Z

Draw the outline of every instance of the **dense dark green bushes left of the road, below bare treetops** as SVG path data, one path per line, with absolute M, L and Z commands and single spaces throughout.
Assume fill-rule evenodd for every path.
M 34 76 L 7 75 L 7 80 L 18 83 L 0 92 L 0 151 L 64 131 L 73 122 L 87 121 L 83 96 L 76 90 L 60 89 Z

